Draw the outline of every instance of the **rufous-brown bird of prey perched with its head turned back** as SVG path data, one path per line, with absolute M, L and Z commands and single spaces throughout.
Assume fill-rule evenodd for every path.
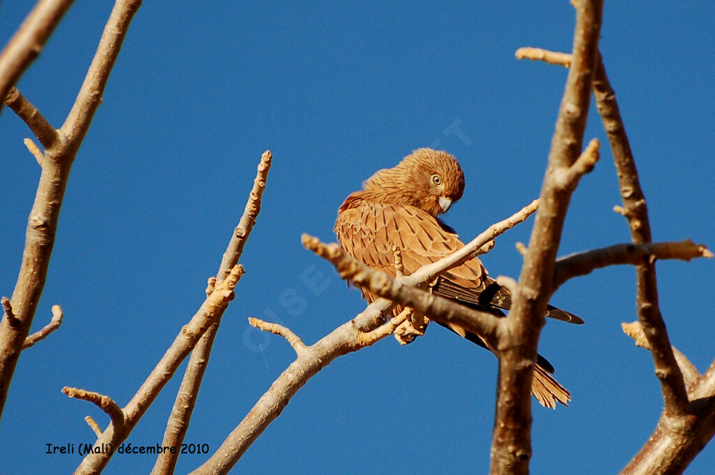
M 452 155 L 428 148 L 415 150 L 397 166 L 378 170 L 352 193 L 337 212 L 335 233 L 345 253 L 370 268 L 397 274 L 393 246 L 402 255 L 405 274 L 463 248 L 455 231 L 438 219 L 462 197 L 464 172 Z M 369 302 L 377 296 L 363 290 Z M 504 315 L 511 306 L 509 291 L 498 285 L 478 258 L 448 270 L 430 284 L 430 291 L 477 310 Z M 403 309 L 398 305 L 395 315 Z M 429 317 L 429 315 L 426 315 Z M 572 313 L 548 307 L 546 315 L 583 323 Z M 463 338 L 495 352 L 485 338 L 445 325 Z M 498 355 L 497 355 L 498 356 Z M 538 356 L 531 392 L 543 406 L 567 404 L 571 394 L 551 376 L 553 366 Z

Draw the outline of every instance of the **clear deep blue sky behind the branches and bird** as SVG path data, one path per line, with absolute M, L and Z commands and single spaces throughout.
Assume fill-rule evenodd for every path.
M 59 127 L 94 54 L 112 2 L 77 0 L 19 88 Z M 0 5 L 4 44 L 24 1 Z M 25 351 L 0 426 L 3 473 L 67 473 L 80 458 L 44 444 L 91 442 L 94 406 L 77 386 L 127 403 L 204 298 L 245 205 L 260 154 L 274 156 L 246 275 L 214 346 L 187 442 L 211 453 L 292 361 L 282 338 L 247 317 L 279 320 L 313 343 L 363 310 L 300 234 L 332 241 L 337 207 L 375 170 L 418 147 L 447 150 L 465 194 L 445 220 L 469 240 L 538 196 L 566 69 L 518 62 L 520 46 L 568 51 L 573 9 L 553 2 L 145 1 L 70 175 L 33 330 L 64 323 Z M 715 247 L 713 190 L 715 4 L 606 2 L 601 51 L 648 198 L 655 240 Z M 455 126 L 456 124 L 456 126 Z M 462 135 L 445 133 L 458 127 Z M 0 115 L 0 293 L 10 295 L 39 167 L 24 124 Z M 592 107 L 586 139 L 601 162 L 573 195 L 560 255 L 629 240 L 610 151 Z M 511 230 L 483 258 L 518 278 Z M 704 371 L 712 342 L 714 263 L 661 262 L 661 310 L 671 341 Z M 322 273 L 315 293 L 301 275 Z M 634 320 L 633 268 L 573 280 L 552 303 L 586 325 L 549 322 L 540 351 L 573 394 L 569 408 L 534 406 L 533 474 L 613 473 L 648 439 L 662 399 L 649 353 L 623 335 Z M 305 308 L 288 305 L 300 295 Z M 435 325 L 338 358 L 312 378 L 239 461 L 235 473 L 484 473 L 496 361 Z M 183 375 L 128 441 L 152 445 Z M 179 459 L 177 473 L 204 456 Z M 150 457 L 114 456 L 106 474 L 148 473 Z M 708 446 L 689 474 L 708 473 Z

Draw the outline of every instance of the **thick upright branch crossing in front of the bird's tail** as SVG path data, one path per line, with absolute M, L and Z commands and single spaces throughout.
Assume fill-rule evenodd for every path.
M 539 210 L 519 278 L 518 295 L 499 338 L 498 401 L 491 446 L 491 474 L 527 474 L 531 459 L 531 384 L 536 347 L 553 292 L 556 253 L 573 187 L 558 174 L 581 155 L 598 56 L 602 0 L 582 0 L 576 9 L 573 64 L 556 119 Z M 579 169 L 582 167 L 576 165 Z M 578 173 L 573 174 L 578 177 Z

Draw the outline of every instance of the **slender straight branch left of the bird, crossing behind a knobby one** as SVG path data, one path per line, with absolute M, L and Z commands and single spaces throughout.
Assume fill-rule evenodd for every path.
M 221 260 L 221 265 L 217 273 L 218 280 L 223 280 L 231 268 L 238 263 L 238 260 L 241 257 L 246 240 L 253 229 L 256 217 L 261 209 L 261 197 L 263 195 L 263 190 L 265 190 L 265 183 L 268 177 L 268 171 L 270 170 L 271 160 L 272 155 L 270 150 L 263 152 L 261 160 L 258 164 L 255 180 L 253 180 L 252 190 L 243 210 L 243 215 L 233 232 L 233 236 L 231 237 L 231 240 L 226 248 L 226 252 Z M 164 441 L 162 442 L 164 446 L 179 447 L 184 441 L 186 431 L 189 429 L 189 421 L 191 420 L 194 406 L 196 406 L 196 400 L 199 395 L 199 386 L 201 386 L 204 371 L 206 371 L 209 356 L 211 356 L 211 348 L 213 346 L 219 324 L 221 323 L 222 315 L 223 313 L 217 315 L 215 322 L 211 325 L 209 330 L 204 333 L 204 336 L 202 336 L 201 340 L 199 340 L 199 343 L 197 343 L 197 346 L 191 353 L 189 364 L 184 372 L 184 379 L 182 380 L 181 386 L 179 386 L 179 391 L 177 391 L 177 397 L 174 401 L 172 413 L 169 416 L 169 421 L 167 421 L 167 427 L 164 429 Z M 173 454 L 170 451 L 159 454 L 157 461 L 154 464 L 154 468 L 152 469 L 152 475 L 172 474 L 178 458 L 178 450 L 174 451 Z

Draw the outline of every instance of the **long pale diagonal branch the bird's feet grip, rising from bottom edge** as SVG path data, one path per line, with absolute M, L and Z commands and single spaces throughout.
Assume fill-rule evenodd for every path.
M 475 237 L 464 248 L 452 255 L 425 265 L 415 273 L 403 279 L 403 287 L 424 285 L 432 281 L 439 273 L 451 268 L 457 262 L 464 262 L 477 250 L 489 245 L 496 236 L 521 222 L 536 209 L 537 202 L 520 210 L 512 217 L 490 226 L 485 232 Z M 295 361 L 273 382 L 270 389 L 255 403 L 247 416 L 227 436 L 219 449 L 207 461 L 192 471 L 193 475 L 226 474 L 234 466 L 250 445 L 266 427 L 280 416 L 281 411 L 292 396 L 318 371 L 329 365 L 338 356 L 365 348 L 390 335 L 396 325 L 404 321 L 405 314 L 398 320 L 383 325 L 395 303 L 381 298 L 368 305 L 359 315 L 332 330 L 327 336 L 307 346 L 298 354 Z M 493 317 L 493 315 L 490 315 Z M 395 325 L 396 324 L 396 325 Z M 374 333 L 373 333 L 374 331 Z

